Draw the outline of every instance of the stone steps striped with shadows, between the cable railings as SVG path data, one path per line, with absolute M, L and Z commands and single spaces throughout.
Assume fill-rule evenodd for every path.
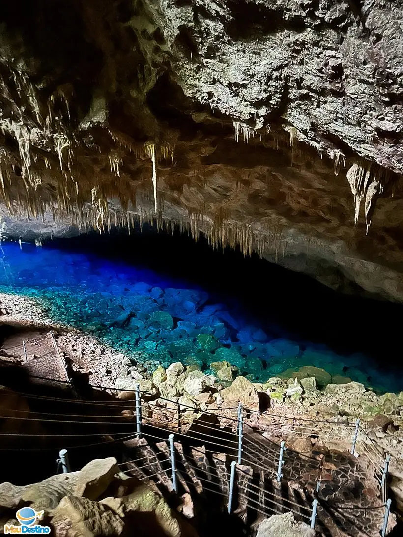
M 186 508 L 189 509 L 189 504 L 192 505 L 192 512 L 206 508 L 211 512 L 212 506 L 221 512 L 226 511 L 233 456 L 212 453 L 206 450 L 205 446 L 186 445 L 186 441 L 175 442 L 178 495 L 174 495 L 168 442 L 164 440 L 153 442 L 142 438 L 131 440 L 129 443 L 130 447 L 126 450 L 124 460 L 135 461 L 121 465 L 126 474 L 154 484 L 169 502 L 176 502 L 176 507 L 182 502 L 184 511 Z M 376 524 L 372 529 L 368 528 L 372 525 L 372 520 L 366 521 L 361 527 L 359 520 L 358 524 L 357 520 L 353 524 L 346 512 L 329 505 L 321 498 L 320 492 L 316 494 L 312 483 L 304 486 L 301 482 L 293 480 L 292 477 L 295 476 L 291 475 L 292 471 L 286 469 L 286 458 L 284 477 L 282 482 L 278 483 L 270 452 L 269 459 L 264 459 L 263 447 L 257 447 L 257 444 L 254 446 L 260 455 L 258 463 L 249 462 L 248 455 L 245 455 L 243 465 L 236 466 L 232 511 L 244 524 L 253 527 L 262 516 L 289 511 L 293 512 L 296 519 L 309 524 L 312 502 L 317 498 L 319 505 L 315 529 L 318 535 L 322 537 L 379 535 L 379 525 Z M 297 455 L 291 452 L 287 456 L 289 459 L 297 458 Z M 316 463 L 314 471 L 318 473 L 320 461 Z M 312 466 L 315 466 L 314 462 Z M 354 517 L 357 516 L 356 512 L 352 514 Z

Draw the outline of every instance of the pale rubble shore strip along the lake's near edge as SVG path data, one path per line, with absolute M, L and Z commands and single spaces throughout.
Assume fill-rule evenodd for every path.
M 91 335 L 55 326 L 46 311 L 31 299 L 1 295 L 0 300 L 2 323 L 41 326 L 45 332 L 56 330 L 57 344 L 71 369 L 78 375 L 87 375 L 93 386 L 107 388 L 119 398 L 133 398 L 131 390 L 140 384 L 147 400 L 161 407 L 169 400 L 186 411 L 235 409 L 242 403 L 250 411 L 256 411 L 256 419 L 265 411 L 279 417 L 328 419 L 339 423 L 354 423 L 359 417 L 369 437 L 392 455 L 392 489 L 397 498 L 403 497 L 403 392 L 377 394 L 362 383 L 332 378 L 325 370 L 313 366 L 272 376 L 264 383 L 250 381 L 227 360 L 212 362 L 207 371 L 202 371 L 198 364 L 182 362 L 164 368 L 141 351 L 129 359 Z M 3 349 L 2 354 L 23 362 L 18 352 L 12 355 Z M 23 367 L 29 365 L 32 371 L 35 361 L 40 364 L 39 358 L 32 355 Z M 35 374 L 41 374 L 40 368 Z

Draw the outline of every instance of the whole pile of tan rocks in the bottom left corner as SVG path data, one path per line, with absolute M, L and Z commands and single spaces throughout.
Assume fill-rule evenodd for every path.
M 115 491 L 116 496 L 104 497 L 106 490 Z M 23 505 L 45 511 L 47 524 L 56 537 L 117 537 L 138 532 L 139 525 L 144 537 L 196 537 L 196 532 L 155 490 L 136 478 L 119 474 L 113 458 L 93 460 L 80 471 L 25 487 L 0 485 L 3 516 L 15 513 Z M 186 509 L 189 511 L 189 507 Z

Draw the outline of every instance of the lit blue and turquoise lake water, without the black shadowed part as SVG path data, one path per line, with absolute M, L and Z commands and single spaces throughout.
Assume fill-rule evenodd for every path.
M 151 362 L 151 369 L 180 360 L 208 370 L 212 361 L 227 359 L 251 380 L 264 382 L 312 365 L 380 391 L 403 389 L 401 374 L 385 371 L 379 357 L 356 350 L 335 352 L 320 338 L 318 342 L 290 335 L 284 320 L 276 322 L 261 311 L 250 315 L 237 299 L 236 288 L 228 297 L 167 275 L 163 263 L 169 265 L 169 258 L 160 260 L 160 270 L 152 270 L 140 262 L 103 256 L 90 243 L 81 251 L 66 244 L 23 244 L 20 249 L 18 243 L 3 243 L 0 292 L 40 299 L 54 321 Z M 307 304 L 297 306 L 305 306 L 305 317 Z M 270 304 L 262 311 L 268 309 Z

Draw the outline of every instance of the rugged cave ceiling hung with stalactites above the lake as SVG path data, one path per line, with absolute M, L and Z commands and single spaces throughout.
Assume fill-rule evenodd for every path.
M 402 0 L 15 0 L 5 235 L 155 222 L 402 301 L 402 112 Z

